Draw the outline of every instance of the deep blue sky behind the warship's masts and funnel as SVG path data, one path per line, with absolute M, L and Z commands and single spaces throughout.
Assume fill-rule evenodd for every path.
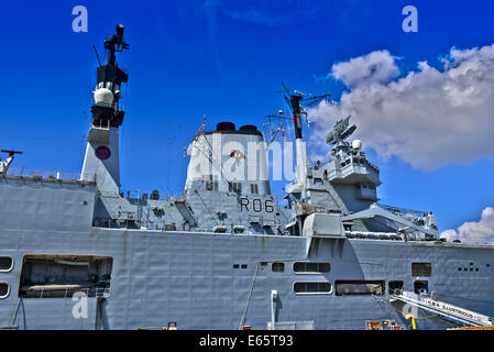
M 87 33 L 72 30 L 78 4 L 88 10 Z M 418 9 L 417 33 L 402 30 L 407 4 Z M 332 65 L 375 51 L 398 57 L 403 75 L 418 62 L 440 67 L 452 47 L 494 43 L 493 10 L 477 0 L 9 1 L 0 11 L 0 147 L 24 152 L 17 166 L 80 170 L 96 81 L 92 45 L 102 55 L 102 38 L 122 23 L 131 45 L 119 56 L 130 73 L 122 188 L 180 194 L 183 150 L 204 114 L 210 129 L 224 120 L 261 125 L 283 108 L 282 81 L 330 90 L 338 100 L 350 88 L 328 76 Z M 494 206 L 493 154 L 424 169 L 367 153 L 380 163 L 381 201 L 432 210 L 441 231 Z

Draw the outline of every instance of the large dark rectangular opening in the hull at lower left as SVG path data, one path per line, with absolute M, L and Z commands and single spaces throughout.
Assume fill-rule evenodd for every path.
M 112 262 L 109 256 L 26 255 L 19 297 L 72 298 L 75 293 L 108 297 Z

